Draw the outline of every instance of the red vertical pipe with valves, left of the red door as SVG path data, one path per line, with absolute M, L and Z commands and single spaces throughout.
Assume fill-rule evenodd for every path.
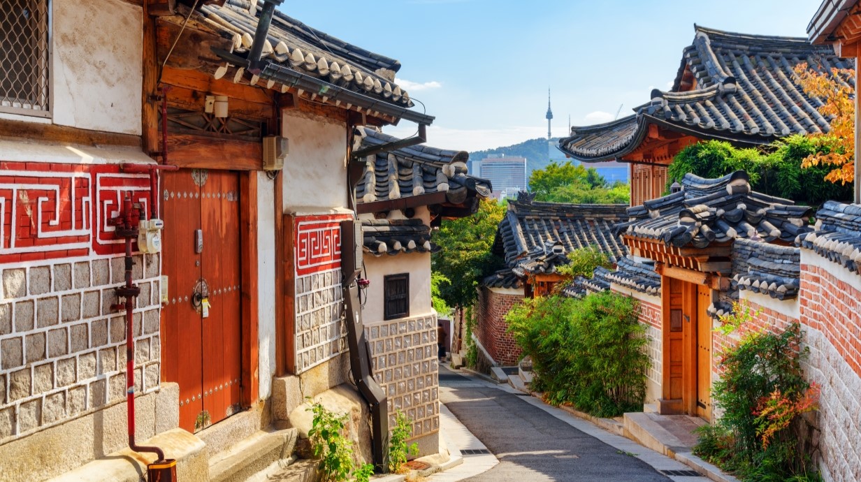
M 164 452 L 158 447 L 145 447 L 134 443 L 134 331 L 133 309 L 134 299 L 140 294 L 140 288 L 132 283 L 132 240 L 138 237 L 140 212 L 133 209 L 132 198 L 126 195 L 122 200 L 120 217 L 112 219 L 116 234 L 126 239 L 126 286 L 117 288 L 117 295 L 126 299 L 125 305 L 114 305 L 116 309 L 126 309 L 126 403 L 128 408 L 128 448 L 135 452 L 150 452 L 156 454 L 157 462 L 164 462 Z

